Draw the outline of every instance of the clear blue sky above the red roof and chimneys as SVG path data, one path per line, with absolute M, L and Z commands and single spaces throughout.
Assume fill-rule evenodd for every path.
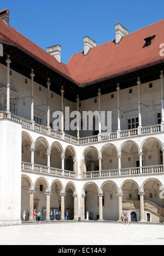
M 84 36 L 98 45 L 115 38 L 118 22 L 131 33 L 164 19 L 163 0 L 1 0 L 0 6 L 9 9 L 10 26 L 43 49 L 60 44 L 64 63 L 83 50 Z

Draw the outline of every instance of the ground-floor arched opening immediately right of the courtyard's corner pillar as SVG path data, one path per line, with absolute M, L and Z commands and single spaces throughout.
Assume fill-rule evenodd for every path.
M 86 195 L 85 219 L 88 216 L 90 220 L 97 220 L 99 218 L 98 188 L 94 183 L 89 183 L 85 185 L 84 192 Z

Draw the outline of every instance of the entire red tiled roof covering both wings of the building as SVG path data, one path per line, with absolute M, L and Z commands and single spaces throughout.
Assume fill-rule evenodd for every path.
M 160 44 L 164 43 L 164 20 L 142 28 L 123 37 L 119 44 L 115 40 L 92 48 L 84 56 L 83 51 L 74 54 L 67 65 L 61 65 L 53 56 L 27 39 L 13 27 L 7 27 L 0 20 L 0 41 L 17 45 L 57 72 L 78 84 L 89 84 L 115 75 L 133 71 L 164 60 L 159 55 Z M 143 48 L 145 38 L 156 34 L 151 46 Z

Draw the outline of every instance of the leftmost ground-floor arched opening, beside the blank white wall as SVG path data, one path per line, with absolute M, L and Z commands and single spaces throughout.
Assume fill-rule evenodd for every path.
M 22 176 L 21 178 L 21 219 L 23 220 L 22 214 L 23 211 L 26 211 L 26 218 L 27 221 L 30 216 L 30 194 L 28 191 L 31 188 L 31 181 L 26 176 Z

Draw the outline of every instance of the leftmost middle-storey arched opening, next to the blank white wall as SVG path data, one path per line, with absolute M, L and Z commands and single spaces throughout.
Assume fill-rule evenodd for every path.
M 26 133 L 22 133 L 22 161 L 31 162 L 31 146 L 32 141 L 30 136 Z

